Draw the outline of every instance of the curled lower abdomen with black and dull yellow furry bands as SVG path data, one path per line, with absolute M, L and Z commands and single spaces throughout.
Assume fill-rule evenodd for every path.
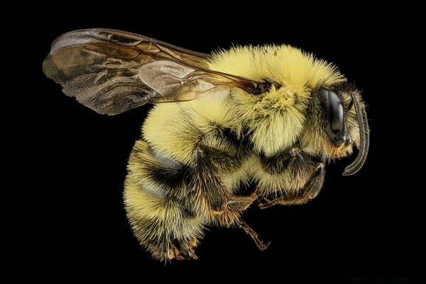
M 204 219 L 193 208 L 185 166 L 136 141 L 128 170 L 124 202 L 138 241 L 162 261 L 194 258 Z

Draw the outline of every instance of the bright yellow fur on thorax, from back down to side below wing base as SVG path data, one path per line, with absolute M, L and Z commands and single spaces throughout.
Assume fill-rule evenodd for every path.
M 232 92 L 236 117 L 249 127 L 255 150 L 266 155 L 290 147 L 300 136 L 312 89 L 345 81 L 333 65 L 289 45 L 224 50 L 214 55 L 210 67 L 283 86 L 262 97 L 248 97 L 241 89 Z

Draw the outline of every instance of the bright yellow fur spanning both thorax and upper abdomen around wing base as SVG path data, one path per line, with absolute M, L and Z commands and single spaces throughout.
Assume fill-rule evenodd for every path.
M 231 97 L 156 105 L 143 126 L 143 137 L 166 158 L 190 163 L 190 149 L 203 133 L 222 126 L 239 134 L 248 129 L 254 150 L 274 155 L 299 138 L 312 89 L 346 80 L 334 65 L 289 45 L 222 50 L 212 55 L 209 67 L 253 80 L 272 80 L 282 87 L 272 87 L 261 96 L 234 88 Z

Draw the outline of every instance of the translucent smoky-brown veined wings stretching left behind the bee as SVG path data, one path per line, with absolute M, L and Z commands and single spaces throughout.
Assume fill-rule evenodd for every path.
M 230 87 L 262 92 L 268 82 L 209 70 L 209 55 L 143 35 L 109 29 L 72 31 L 57 38 L 43 72 L 62 91 L 100 114 L 148 102 L 178 102 Z

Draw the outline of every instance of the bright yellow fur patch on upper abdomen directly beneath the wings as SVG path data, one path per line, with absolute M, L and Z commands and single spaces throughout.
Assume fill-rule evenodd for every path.
M 201 140 L 229 151 L 229 145 L 223 141 L 204 135 L 219 127 L 236 128 L 234 111 L 224 99 L 157 104 L 143 124 L 142 131 L 143 138 L 160 155 L 192 164 L 195 144 Z

